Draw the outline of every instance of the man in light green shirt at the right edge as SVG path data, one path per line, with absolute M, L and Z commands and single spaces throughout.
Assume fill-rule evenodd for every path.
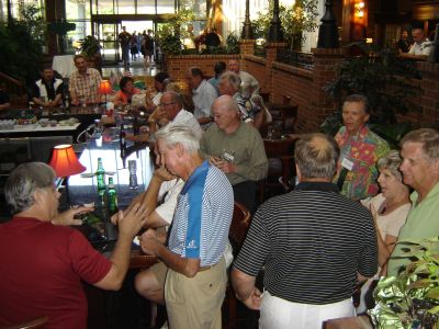
M 412 211 L 401 228 L 398 241 L 423 240 L 439 236 L 439 133 L 417 129 L 401 140 L 404 183 L 415 192 Z M 387 275 L 397 275 L 408 263 L 403 246 L 396 245 L 389 261 Z

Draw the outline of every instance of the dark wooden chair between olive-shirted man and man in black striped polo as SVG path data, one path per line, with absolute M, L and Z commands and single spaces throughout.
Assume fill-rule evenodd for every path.
M 263 139 L 263 147 L 269 161 L 268 175 L 259 181 L 259 202 L 268 196 L 267 190 L 288 192 L 290 181 L 294 175 L 294 143 L 293 139 Z

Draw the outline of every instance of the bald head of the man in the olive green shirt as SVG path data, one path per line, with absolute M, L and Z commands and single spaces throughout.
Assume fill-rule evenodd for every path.
M 238 104 L 229 95 L 222 95 L 213 102 L 212 115 L 218 128 L 227 134 L 235 132 L 240 125 Z

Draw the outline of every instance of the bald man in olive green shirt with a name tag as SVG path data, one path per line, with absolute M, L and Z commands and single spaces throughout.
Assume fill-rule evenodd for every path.
M 235 201 L 250 212 L 256 207 L 256 182 L 266 178 L 268 160 L 257 129 L 240 121 L 239 107 L 229 95 L 212 105 L 215 121 L 200 140 L 201 155 L 230 181 Z

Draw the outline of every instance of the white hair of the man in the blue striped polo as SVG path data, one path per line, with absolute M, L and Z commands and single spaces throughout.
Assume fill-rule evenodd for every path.
M 164 140 L 168 148 L 180 144 L 190 154 L 196 154 L 200 149 L 200 139 L 188 125 L 169 123 L 157 131 L 155 137 L 156 140 Z

